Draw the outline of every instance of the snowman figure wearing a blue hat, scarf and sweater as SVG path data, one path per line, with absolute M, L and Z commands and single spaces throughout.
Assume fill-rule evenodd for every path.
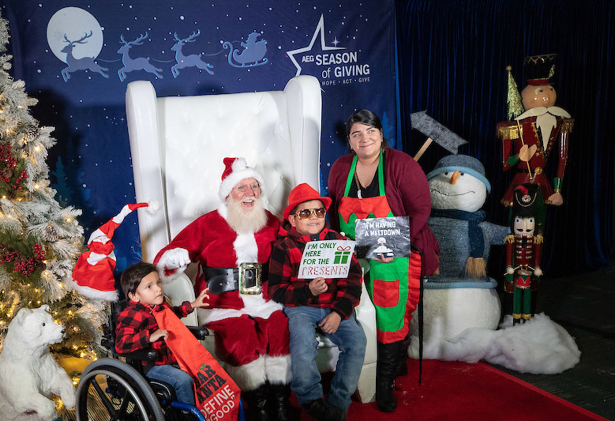
M 432 203 L 427 223 L 440 244 L 440 272 L 424 283 L 423 358 L 438 359 L 442 340 L 469 327 L 498 327 L 501 303 L 496 281 L 486 275 L 486 262 L 491 245 L 504 245 L 509 227 L 485 221 L 480 208 L 491 184 L 478 159 L 445 156 L 427 180 Z M 410 325 L 411 358 L 418 358 L 417 319 Z

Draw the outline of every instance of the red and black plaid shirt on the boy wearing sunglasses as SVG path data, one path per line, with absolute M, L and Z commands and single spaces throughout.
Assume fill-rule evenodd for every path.
M 328 289 L 322 294 L 316 296 L 312 294 L 308 286 L 312 279 L 297 278 L 303 249 L 308 241 L 346 238 L 327 227 L 312 238 L 301 235 L 287 220 L 282 222 L 278 236 L 269 260 L 269 297 L 290 307 L 298 305 L 329 307 L 339 313 L 343 319 L 352 315 L 352 308 L 359 304 L 363 281 L 361 267 L 354 255 L 348 278 L 327 279 Z

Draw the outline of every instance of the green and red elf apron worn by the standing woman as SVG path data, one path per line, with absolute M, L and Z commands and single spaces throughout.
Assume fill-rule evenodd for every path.
M 364 199 L 348 196 L 356 167 L 357 156 L 352 160 L 346 190 L 338 206 L 340 231 L 351 239 L 355 237 L 355 220 L 395 216 L 384 194 L 382 151 L 378 163 L 379 196 Z M 380 263 L 370 259 L 368 275 L 365 286 L 376 308 L 376 339 L 382 343 L 393 343 L 404 339 L 410 329 L 412 313 L 419 302 L 420 254 L 413 251 L 411 257 L 395 257 L 391 263 Z

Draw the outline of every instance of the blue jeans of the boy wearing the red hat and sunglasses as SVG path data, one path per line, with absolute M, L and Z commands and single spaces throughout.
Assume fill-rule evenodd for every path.
M 300 404 L 322 398 L 320 373 L 316 366 L 318 353 L 316 329 L 320 321 L 331 313 L 330 308 L 285 307 L 290 331 L 290 367 L 293 372 L 291 388 Z M 338 364 L 331 380 L 328 401 L 348 410 L 351 395 L 357 389 L 365 358 L 365 332 L 354 315 L 342 320 L 334 334 L 324 334 L 339 348 Z

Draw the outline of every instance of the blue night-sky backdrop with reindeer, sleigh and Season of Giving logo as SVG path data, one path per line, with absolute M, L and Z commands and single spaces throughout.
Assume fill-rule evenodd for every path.
M 298 74 L 322 87 L 320 189 L 346 153 L 343 123 L 356 108 L 383 119 L 396 145 L 394 2 L 3 0 L 12 75 L 54 126 L 52 183 L 83 210 L 89 236 L 135 201 L 126 85 L 145 79 L 160 96 L 282 90 Z M 399 142 L 400 143 L 400 142 Z M 316 187 L 316 186 L 315 186 Z M 137 218 L 114 235 L 117 269 L 140 259 Z

